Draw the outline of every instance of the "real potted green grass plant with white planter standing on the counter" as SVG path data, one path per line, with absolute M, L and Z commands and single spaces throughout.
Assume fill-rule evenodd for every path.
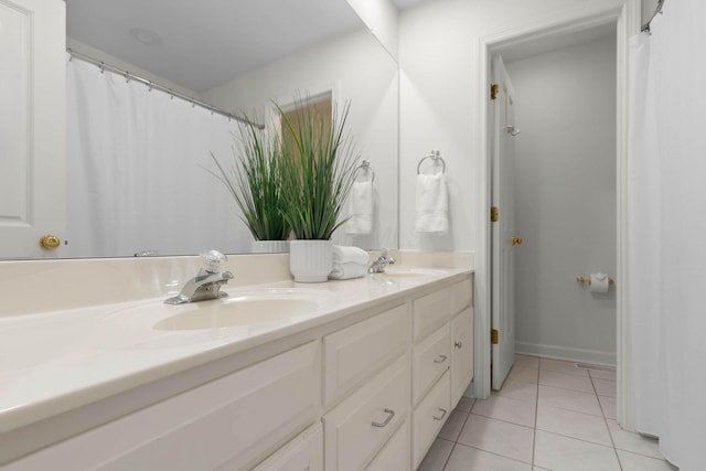
M 295 281 L 327 281 L 332 269 L 333 232 L 345 220 L 344 204 L 355 179 L 359 154 L 345 124 L 346 104 L 331 117 L 297 99 L 292 119 L 277 107 L 282 127 L 282 213 L 295 234 L 290 271 Z

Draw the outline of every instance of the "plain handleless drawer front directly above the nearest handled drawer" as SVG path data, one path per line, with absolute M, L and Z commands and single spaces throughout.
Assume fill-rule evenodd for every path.
M 409 304 L 402 304 L 323 339 L 324 405 L 402 355 L 409 344 Z

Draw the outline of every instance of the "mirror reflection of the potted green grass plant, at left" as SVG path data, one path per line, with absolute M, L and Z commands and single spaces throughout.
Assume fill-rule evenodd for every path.
M 211 153 L 217 172 L 206 169 L 226 186 L 240 217 L 255 238 L 254 253 L 288 251 L 290 227 L 281 211 L 282 147 L 249 120 L 239 125 L 233 159 L 224 164 Z

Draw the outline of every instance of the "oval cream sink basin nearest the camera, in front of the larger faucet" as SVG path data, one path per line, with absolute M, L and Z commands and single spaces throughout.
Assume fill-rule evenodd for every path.
M 233 328 L 277 322 L 319 309 L 310 299 L 226 298 L 218 303 L 196 306 L 185 312 L 158 321 L 154 329 L 164 331 Z

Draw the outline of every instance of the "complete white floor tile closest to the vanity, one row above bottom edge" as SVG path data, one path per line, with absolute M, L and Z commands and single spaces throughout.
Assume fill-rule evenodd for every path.
M 534 429 L 471 414 L 459 443 L 532 463 Z

